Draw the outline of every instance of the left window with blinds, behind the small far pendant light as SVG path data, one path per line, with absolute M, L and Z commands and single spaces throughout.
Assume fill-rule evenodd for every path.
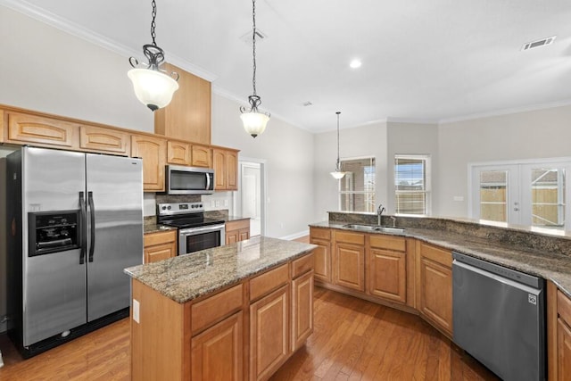
M 340 211 L 375 211 L 375 158 L 341 160 Z

